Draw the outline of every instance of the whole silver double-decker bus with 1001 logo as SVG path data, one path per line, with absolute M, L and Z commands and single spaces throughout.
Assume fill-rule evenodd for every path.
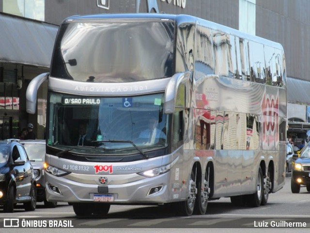
M 71 16 L 29 113 L 47 79 L 47 200 L 77 216 L 133 203 L 205 214 L 221 197 L 257 207 L 284 186 L 279 43 L 186 15 Z

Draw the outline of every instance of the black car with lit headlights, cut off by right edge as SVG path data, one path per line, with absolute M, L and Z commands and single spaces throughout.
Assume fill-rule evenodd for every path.
M 310 143 L 300 152 L 300 156 L 294 156 L 291 190 L 292 193 L 299 193 L 301 186 L 306 186 L 310 192 Z

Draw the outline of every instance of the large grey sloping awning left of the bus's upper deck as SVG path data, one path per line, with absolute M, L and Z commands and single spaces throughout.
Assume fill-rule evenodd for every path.
M 49 67 L 58 26 L 0 13 L 0 62 Z

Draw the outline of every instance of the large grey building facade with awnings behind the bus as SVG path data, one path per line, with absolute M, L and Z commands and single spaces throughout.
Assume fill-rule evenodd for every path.
M 44 137 L 47 87 L 43 86 L 40 92 L 38 111 L 34 116 L 26 113 L 25 93 L 32 78 L 48 72 L 53 39 L 64 18 L 72 15 L 138 12 L 197 16 L 282 44 L 288 77 L 288 137 L 306 137 L 306 131 L 310 129 L 310 97 L 307 95 L 310 89 L 310 66 L 304 61 L 310 58 L 310 43 L 307 40 L 310 38 L 310 1 L 0 0 L 0 31 L 5 31 L 8 38 L 0 45 L 0 139 L 16 137 L 28 122 L 35 125 L 38 138 Z M 21 36 L 16 34 L 16 28 L 20 31 L 23 28 L 28 30 L 23 30 L 24 36 Z M 33 51 L 27 53 L 26 48 L 20 46 L 23 41 L 32 42 L 31 47 L 25 43 L 27 48 L 35 50 L 35 55 Z M 16 57 L 25 54 L 25 58 L 12 59 L 10 51 L 15 51 Z M 29 53 L 33 57 L 31 60 Z M 274 59 L 277 59 L 277 54 Z M 19 80 L 22 86 L 18 89 Z M 3 97 L 4 108 L 1 104 Z

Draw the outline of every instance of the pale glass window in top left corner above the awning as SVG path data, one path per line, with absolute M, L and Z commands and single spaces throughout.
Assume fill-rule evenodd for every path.
M 3 12 L 44 21 L 45 0 L 3 0 Z

